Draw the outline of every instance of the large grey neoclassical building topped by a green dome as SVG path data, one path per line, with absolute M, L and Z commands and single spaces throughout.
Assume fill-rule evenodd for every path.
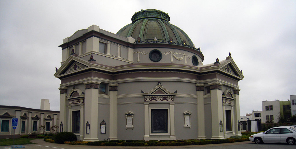
M 92 25 L 63 40 L 60 131 L 80 140 L 240 136 L 231 54 L 211 64 L 167 13 L 136 12 L 118 33 Z

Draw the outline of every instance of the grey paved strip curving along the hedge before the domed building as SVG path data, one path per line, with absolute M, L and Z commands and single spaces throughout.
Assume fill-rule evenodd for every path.
M 248 144 L 251 141 L 234 142 L 234 143 L 223 143 L 223 144 L 207 144 L 207 145 L 185 145 L 185 146 L 91 146 L 91 145 L 67 145 L 45 142 L 44 139 L 35 139 L 30 142 L 36 144 L 23 145 L 27 149 L 100 149 L 100 148 L 203 148 L 203 147 L 214 147 L 214 146 L 225 146 L 225 145 L 239 145 Z M 10 146 L 0 146 L 0 149 L 11 149 Z

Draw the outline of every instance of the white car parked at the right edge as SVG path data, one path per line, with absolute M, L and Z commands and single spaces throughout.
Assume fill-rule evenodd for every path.
M 293 145 L 296 142 L 296 131 L 290 127 L 274 127 L 266 132 L 251 135 L 249 140 L 256 144 L 263 142 L 287 142 L 289 145 Z

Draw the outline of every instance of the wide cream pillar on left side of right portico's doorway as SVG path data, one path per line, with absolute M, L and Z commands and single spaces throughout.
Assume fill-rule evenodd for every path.
M 222 106 L 222 85 L 221 83 L 209 83 L 211 90 L 211 111 L 212 111 L 212 138 L 224 139 L 223 132 L 220 132 L 219 122 L 223 119 Z M 223 124 L 224 127 L 225 123 Z

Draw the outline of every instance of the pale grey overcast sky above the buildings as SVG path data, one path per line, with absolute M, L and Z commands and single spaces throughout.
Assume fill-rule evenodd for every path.
M 0 0 L 0 105 L 40 108 L 49 99 L 59 111 L 59 45 L 77 30 L 98 25 L 117 33 L 141 9 L 170 16 L 205 56 L 229 52 L 239 81 L 240 115 L 262 110 L 262 101 L 296 94 L 296 1 L 41 1 Z

